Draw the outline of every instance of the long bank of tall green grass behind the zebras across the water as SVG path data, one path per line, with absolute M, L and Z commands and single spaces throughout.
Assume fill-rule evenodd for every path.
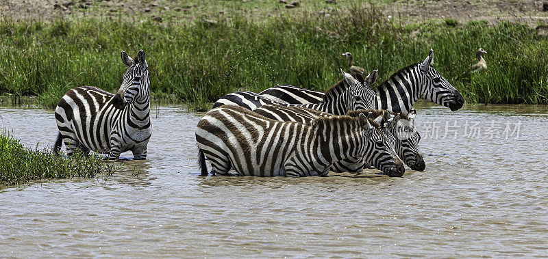
M 401 25 L 369 5 L 261 23 L 213 20 L 0 21 L 0 94 L 36 95 L 40 105 L 54 107 L 78 85 L 114 92 L 125 71 L 120 51 L 134 55 L 144 49 L 153 96 L 173 94 L 207 109 L 236 90 L 258 92 L 276 84 L 326 90 L 340 79 L 338 68 L 347 67 L 340 55 L 345 51 L 353 53 L 355 64 L 378 69 L 386 79 L 422 61 L 432 48 L 436 68 L 468 102 L 548 101 L 548 41 L 526 25 Z M 462 75 L 480 46 L 488 51 L 488 70 Z

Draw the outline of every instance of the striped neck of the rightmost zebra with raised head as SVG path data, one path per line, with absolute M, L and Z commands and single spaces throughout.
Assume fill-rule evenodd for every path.
M 423 96 L 420 64 L 402 68 L 375 89 L 375 109 L 407 115 Z

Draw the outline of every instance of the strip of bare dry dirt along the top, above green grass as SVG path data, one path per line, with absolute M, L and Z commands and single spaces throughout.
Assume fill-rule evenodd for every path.
M 0 1 L 0 16 L 15 21 L 21 19 L 45 20 L 53 18 L 79 18 L 83 16 L 106 16 L 138 19 L 150 16 L 155 21 L 191 21 L 209 16 L 245 16 L 261 21 L 279 14 L 312 13 L 326 15 L 336 9 L 347 8 L 359 2 L 325 0 L 302 0 L 297 8 L 286 8 L 279 0 L 239 1 L 175 1 L 175 0 L 3 0 Z M 369 4 L 364 2 L 364 5 Z M 454 19 L 460 23 L 468 21 L 499 21 L 526 23 L 536 27 L 548 22 L 547 1 L 539 0 L 425 0 L 384 1 L 377 3 L 386 15 L 401 18 L 405 23 L 431 19 Z

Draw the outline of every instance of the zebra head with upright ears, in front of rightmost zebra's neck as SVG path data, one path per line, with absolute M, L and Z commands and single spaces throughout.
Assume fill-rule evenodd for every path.
M 365 79 L 361 78 L 362 80 L 352 77 L 351 74 L 342 69 L 340 72 L 343 72 L 343 76 L 345 77 L 344 83 L 348 85 L 346 98 L 347 111 L 373 109 L 375 105 L 375 92 L 371 90 L 371 85 L 377 81 L 379 72 L 373 70 Z

